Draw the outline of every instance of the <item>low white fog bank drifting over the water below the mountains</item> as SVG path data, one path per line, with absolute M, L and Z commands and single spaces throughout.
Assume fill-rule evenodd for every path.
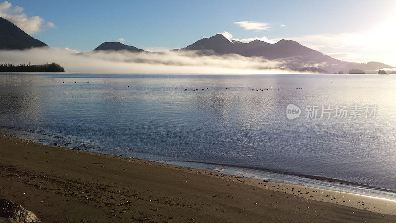
M 0 51 L 0 63 L 29 62 L 31 64 L 56 62 L 64 66 L 67 72 L 141 74 L 307 73 L 325 65 L 302 62 L 298 58 L 267 60 L 263 57 L 240 55 L 202 55 L 194 51 L 164 53 L 98 51 L 81 54 L 57 48 Z M 314 69 L 306 69 L 306 67 Z

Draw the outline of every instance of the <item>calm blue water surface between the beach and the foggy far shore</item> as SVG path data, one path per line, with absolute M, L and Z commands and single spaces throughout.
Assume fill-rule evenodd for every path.
M 301 110 L 293 120 L 289 104 Z M 0 73 L 0 128 L 44 144 L 396 198 L 396 75 Z

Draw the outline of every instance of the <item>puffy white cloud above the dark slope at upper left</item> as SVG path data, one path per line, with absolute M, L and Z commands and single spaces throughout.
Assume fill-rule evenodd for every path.
M 0 3 L 0 17 L 12 22 L 27 34 L 41 32 L 44 27 L 55 27 L 52 22 L 44 24 L 44 19 L 39 16 L 28 17 L 23 13 L 22 7 L 12 6 L 8 1 Z

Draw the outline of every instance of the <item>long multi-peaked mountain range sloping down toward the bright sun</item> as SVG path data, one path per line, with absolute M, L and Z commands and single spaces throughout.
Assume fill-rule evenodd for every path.
M 394 68 L 380 62 L 354 63 L 335 59 L 324 55 L 318 51 L 302 46 L 293 40 L 280 40 L 270 44 L 260 40 L 243 43 L 235 40 L 228 40 L 221 34 L 216 34 L 210 38 L 204 38 L 181 49 L 182 51 L 195 50 L 203 54 L 238 54 L 241 56 L 262 56 L 267 59 L 283 59 L 285 65 L 293 69 L 303 67 L 317 67 L 325 69 L 330 73 L 338 71 L 348 71 L 350 69 L 363 69 L 369 72 L 382 68 Z M 293 64 L 291 64 L 293 63 Z

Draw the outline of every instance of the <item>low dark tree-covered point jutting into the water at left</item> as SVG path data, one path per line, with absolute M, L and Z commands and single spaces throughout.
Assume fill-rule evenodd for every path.
M 0 64 L 0 72 L 65 72 L 64 67 L 57 63 L 31 65 L 29 64 Z

